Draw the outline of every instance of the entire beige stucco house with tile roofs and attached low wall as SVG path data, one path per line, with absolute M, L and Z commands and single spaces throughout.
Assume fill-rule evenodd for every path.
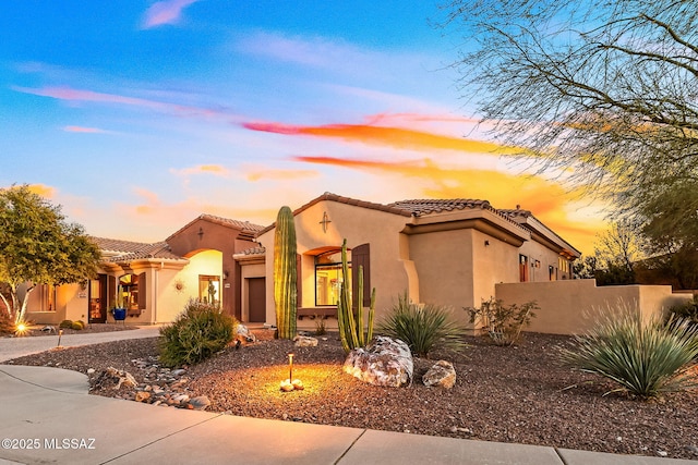
M 623 299 L 643 318 L 685 302 L 671 286 L 597 287 L 573 280 L 580 253 L 530 211 L 496 209 L 486 200 L 417 199 L 383 205 L 325 193 L 293 211 L 297 233 L 299 328 L 314 318 L 336 327 L 339 285 L 364 270 L 364 295 L 376 287 L 376 320 L 398 295 L 448 306 L 467 322 L 462 307 L 492 296 L 506 303 L 535 301 L 528 329 L 569 334 L 593 323 L 586 317 Z M 146 244 L 95 237 L 103 262 L 95 279 L 31 294 L 27 318 L 113 321 L 120 293 L 127 323 L 173 321 L 190 298 L 219 304 L 240 321 L 276 322 L 274 233 L 248 221 L 201 215 L 163 242 Z M 351 276 L 342 277 L 340 248 L 347 240 Z M 357 291 L 354 291 L 357 292 Z

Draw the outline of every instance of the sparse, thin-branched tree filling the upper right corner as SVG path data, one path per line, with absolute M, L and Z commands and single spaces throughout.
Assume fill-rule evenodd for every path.
M 621 217 L 698 224 L 695 201 L 650 205 L 698 183 L 695 2 L 446 1 L 444 25 L 465 35 L 461 91 L 498 142 Z

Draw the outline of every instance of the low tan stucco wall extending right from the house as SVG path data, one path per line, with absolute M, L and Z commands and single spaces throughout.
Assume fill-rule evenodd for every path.
M 690 294 L 673 294 L 669 285 L 597 286 L 597 281 L 571 280 L 552 282 L 501 283 L 495 297 L 505 305 L 535 301 L 539 310 L 531 332 L 579 334 L 592 328 L 600 313 L 609 313 L 625 304 L 639 308 L 642 319 L 661 317 L 669 307 L 690 301 Z

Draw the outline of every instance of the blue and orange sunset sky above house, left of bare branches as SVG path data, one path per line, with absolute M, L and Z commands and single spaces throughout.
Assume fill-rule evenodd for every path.
M 87 233 L 266 225 L 324 192 L 521 208 L 582 250 L 599 206 L 488 142 L 438 1 L 0 2 L 0 187 Z

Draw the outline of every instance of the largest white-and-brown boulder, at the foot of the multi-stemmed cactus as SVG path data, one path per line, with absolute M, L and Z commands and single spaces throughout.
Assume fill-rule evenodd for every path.
M 399 388 L 411 383 L 413 367 L 410 347 L 405 342 L 377 335 L 365 347 L 347 355 L 344 370 L 370 384 Z

